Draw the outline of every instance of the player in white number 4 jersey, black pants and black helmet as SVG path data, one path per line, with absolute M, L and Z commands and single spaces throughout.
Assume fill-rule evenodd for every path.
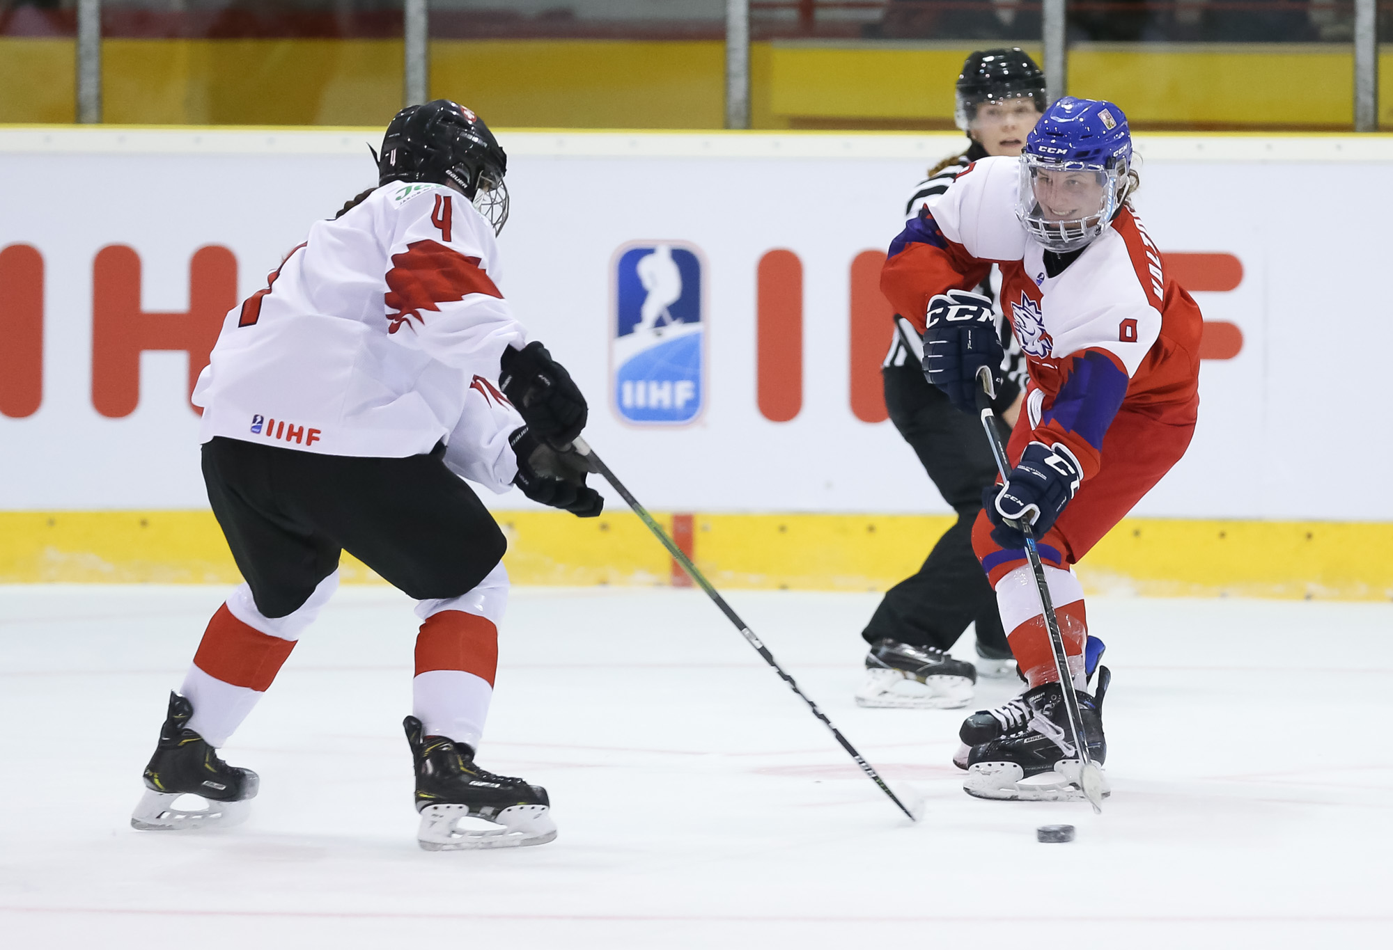
M 468 109 L 400 111 L 379 185 L 227 315 L 194 401 L 208 496 L 245 582 L 171 694 L 138 829 L 231 825 L 258 777 L 216 754 L 338 585 L 348 550 L 417 599 L 412 712 L 419 841 L 540 844 L 546 791 L 474 762 L 508 578 L 471 479 L 579 517 L 600 513 L 568 446 L 586 404 L 497 288 L 507 156 Z M 560 449 L 560 451 L 557 450 Z M 201 811 L 174 808 L 201 795 Z M 492 823 L 461 830 L 464 816 Z

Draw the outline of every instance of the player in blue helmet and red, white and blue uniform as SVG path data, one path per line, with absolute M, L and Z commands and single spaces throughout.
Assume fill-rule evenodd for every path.
M 886 297 L 924 333 L 925 375 L 958 408 L 975 411 L 981 368 L 1000 372 L 992 302 L 972 293 L 993 263 L 1027 355 L 1025 411 L 1007 446 L 1014 468 L 985 493 L 972 534 L 1027 690 L 963 724 L 968 748 L 957 762 L 978 797 L 1081 795 L 1067 779 L 1078 751 L 1018 524 L 1029 522 L 1039 539 L 1085 741 L 1100 763 L 1110 674 L 1098 667 L 1088 692 L 1088 623 L 1073 566 L 1181 458 L 1194 433 L 1202 320 L 1128 203 L 1135 185 L 1123 111 L 1060 99 L 1020 159 L 975 162 L 932 199 L 894 240 L 882 272 Z M 1045 773 L 1052 777 L 1029 781 Z

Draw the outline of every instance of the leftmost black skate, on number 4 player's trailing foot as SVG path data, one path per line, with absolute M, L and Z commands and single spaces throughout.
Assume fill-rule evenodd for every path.
M 146 791 L 131 815 L 131 827 L 187 832 L 231 827 L 247 820 L 260 779 L 251 769 L 235 769 L 217 758 L 217 751 L 202 735 L 187 729 L 192 715 L 194 703 L 171 692 L 160 741 L 145 766 Z M 201 811 L 174 808 L 180 795 L 198 795 L 208 807 Z

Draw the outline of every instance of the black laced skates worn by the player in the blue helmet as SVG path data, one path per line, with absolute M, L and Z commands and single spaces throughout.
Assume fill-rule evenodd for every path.
M 1102 765 L 1107 758 L 1103 738 L 1102 706 L 1109 683 L 1107 667 L 1100 667 L 1096 696 L 1078 692 L 1088 755 Z M 1078 784 L 1080 758 L 1068 726 L 1064 694 L 1057 683 L 1027 690 L 1018 698 L 1024 720 L 1011 731 L 989 742 L 974 745 L 968 754 L 967 780 L 963 790 L 978 798 L 1013 801 L 1081 801 Z M 1029 781 L 1035 776 L 1048 776 Z M 1107 795 L 1106 777 L 1102 795 Z

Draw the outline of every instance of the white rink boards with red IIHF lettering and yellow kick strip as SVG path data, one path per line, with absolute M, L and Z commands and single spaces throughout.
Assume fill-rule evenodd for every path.
M 209 327 L 309 221 L 372 182 L 376 135 L 0 128 L 17 182 L 0 194 L 0 578 L 226 574 L 188 354 L 202 359 Z M 912 570 L 947 506 L 883 421 L 873 276 L 914 182 L 961 139 L 500 141 L 513 217 L 497 283 L 589 394 L 591 443 L 646 504 L 694 515 L 698 559 L 749 586 L 865 589 Z M 1355 472 L 1393 461 L 1369 437 L 1393 139 L 1146 135 L 1138 149 L 1139 212 L 1166 266 L 1206 288 L 1215 358 L 1190 454 L 1089 559 L 1094 582 L 1389 596 L 1393 501 L 1362 499 Z M 666 338 L 621 319 L 652 304 L 638 260 L 663 248 L 681 272 L 649 306 Z M 518 581 L 670 575 L 617 499 L 605 531 L 515 493 L 486 500 L 520 525 Z M 142 520 L 181 527 L 152 545 Z

